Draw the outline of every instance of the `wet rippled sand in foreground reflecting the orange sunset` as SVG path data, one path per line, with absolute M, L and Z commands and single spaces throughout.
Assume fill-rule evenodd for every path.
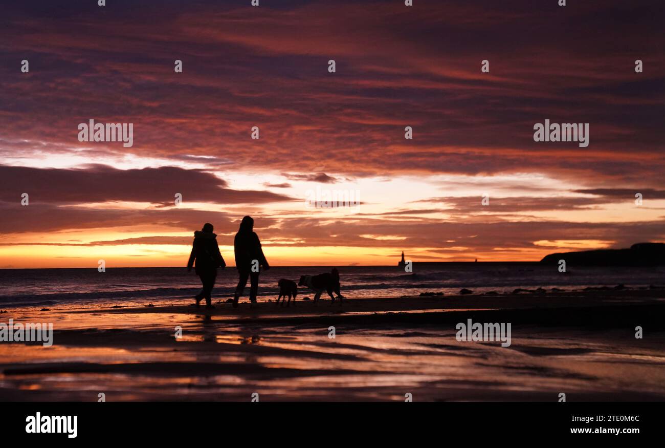
M 0 343 L 0 399 L 665 400 L 665 290 L 152 303 L 0 314 L 55 330 L 52 347 Z M 458 341 L 469 318 L 511 323 L 511 345 Z

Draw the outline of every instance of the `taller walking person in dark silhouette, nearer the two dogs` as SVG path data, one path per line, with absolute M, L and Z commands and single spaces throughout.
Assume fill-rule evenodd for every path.
M 249 300 L 251 304 L 256 303 L 256 296 L 259 290 L 259 266 L 264 270 L 269 270 L 259 236 L 254 232 L 254 220 L 251 216 L 245 216 L 240 223 L 238 233 L 235 234 L 233 246 L 235 248 L 235 267 L 238 269 L 238 286 L 235 288 L 233 296 L 233 308 L 238 307 L 238 300 L 247 286 L 247 278 L 251 282 L 249 288 Z

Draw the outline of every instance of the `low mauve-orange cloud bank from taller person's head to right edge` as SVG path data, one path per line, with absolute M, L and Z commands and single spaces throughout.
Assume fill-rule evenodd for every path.
M 360 235 L 395 236 L 403 239 L 380 240 Z M 589 223 L 525 220 L 508 222 L 487 219 L 480 222 L 460 220 L 442 222 L 435 219 L 414 221 L 384 220 L 361 217 L 321 223 L 317 218 L 285 218 L 261 231 L 261 238 L 301 240 L 291 246 L 358 246 L 392 248 L 454 248 L 467 246 L 479 252 L 496 248 L 533 249 L 539 240 L 606 240 L 615 247 L 626 247 L 638 241 L 665 238 L 660 222 Z M 281 245 L 282 246 L 282 245 Z M 547 252 L 547 248 L 543 249 Z

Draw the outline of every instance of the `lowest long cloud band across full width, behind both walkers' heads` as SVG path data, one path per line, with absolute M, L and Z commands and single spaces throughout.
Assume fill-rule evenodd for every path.
M 0 206 L 5 219 L 0 221 L 1 234 L 20 232 L 56 232 L 105 226 L 151 226 L 191 232 L 203 222 L 213 222 L 220 244 L 232 245 L 241 216 L 227 216 L 219 212 L 200 210 L 89 210 L 75 207 Z M 548 220 L 521 220 L 510 222 L 485 216 L 484 219 L 461 219 L 458 222 L 433 218 L 394 216 L 388 220 L 377 216 L 358 216 L 344 220 L 321 220 L 319 216 L 306 218 L 269 218 L 255 215 L 257 231 L 266 248 L 271 240 L 279 240 L 279 247 L 376 247 L 376 248 L 428 248 L 456 251 L 467 247 L 467 252 L 491 253 L 548 248 L 535 247 L 539 240 L 601 240 L 614 247 L 626 247 L 640 241 L 665 240 L 662 222 L 589 223 Z M 370 235 L 370 237 L 367 237 Z M 384 236 L 390 239 L 374 238 Z M 13 240 L 0 240 L 1 245 L 14 245 Z M 116 244 L 190 244 L 191 237 L 144 236 L 99 240 L 90 243 L 63 242 L 62 246 L 107 246 Z M 39 241 L 29 244 L 41 245 Z M 23 245 L 21 243 L 20 245 Z

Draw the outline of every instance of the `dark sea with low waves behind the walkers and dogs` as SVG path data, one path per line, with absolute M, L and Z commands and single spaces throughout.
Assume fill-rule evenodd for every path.
M 298 282 L 301 275 L 330 272 L 331 266 L 275 266 L 261 272 L 259 300 L 276 298 L 277 282 Z M 537 262 L 414 263 L 413 272 L 398 266 L 338 266 L 341 292 L 348 299 L 398 298 L 426 293 L 505 294 L 517 288 L 583 290 L 616 287 L 662 288 L 665 266 L 585 267 L 569 269 Z M 237 270 L 219 270 L 213 302 L 233 297 Z M 0 270 L 0 309 L 48 306 L 132 306 L 192 301 L 200 290 L 198 276 L 186 268 L 3 269 Z M 245 297 L 249 294 L 249 284 Z M 299 299 L 312 297 L 299 288 Z

